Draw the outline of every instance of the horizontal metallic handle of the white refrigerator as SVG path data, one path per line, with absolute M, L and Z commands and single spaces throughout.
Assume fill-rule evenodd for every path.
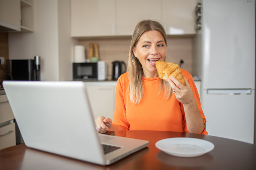
M 251 88 L 247 88 L 247 89 L 207 89 L 207 94 L 247 95 L 247 94 L 251 94 Z

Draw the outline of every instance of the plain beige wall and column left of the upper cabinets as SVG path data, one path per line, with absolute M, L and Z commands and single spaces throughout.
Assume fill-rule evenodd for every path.
M 72 80 L 69 0 L 34 0 L 34 32 L 9 33 L 9 59 L 41 56 L 41 80 Z

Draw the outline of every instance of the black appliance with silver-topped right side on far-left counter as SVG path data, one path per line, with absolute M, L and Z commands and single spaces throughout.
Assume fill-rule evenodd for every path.
M 40 56 L 33 59 L 6 60 L 7 80 L 40 81 Z

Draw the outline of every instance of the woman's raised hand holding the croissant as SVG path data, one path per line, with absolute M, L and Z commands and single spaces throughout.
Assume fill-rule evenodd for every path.
M 175 77 L 171 76 L 170 79 L 167 78 L 167 82 L 174 90 L 177 100 L 179 100 L 183 105 L 189 106 L 195 104 L 196 100 L 194 98 L 191 87 L 188 80 L 184 77 L 186 85 L 181 84 Z

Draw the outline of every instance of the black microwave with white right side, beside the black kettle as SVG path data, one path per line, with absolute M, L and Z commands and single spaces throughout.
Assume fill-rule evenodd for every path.
M 73 63 L 73 80 L 106 80 L 107 65 L 104 61 L 96 63 Z

